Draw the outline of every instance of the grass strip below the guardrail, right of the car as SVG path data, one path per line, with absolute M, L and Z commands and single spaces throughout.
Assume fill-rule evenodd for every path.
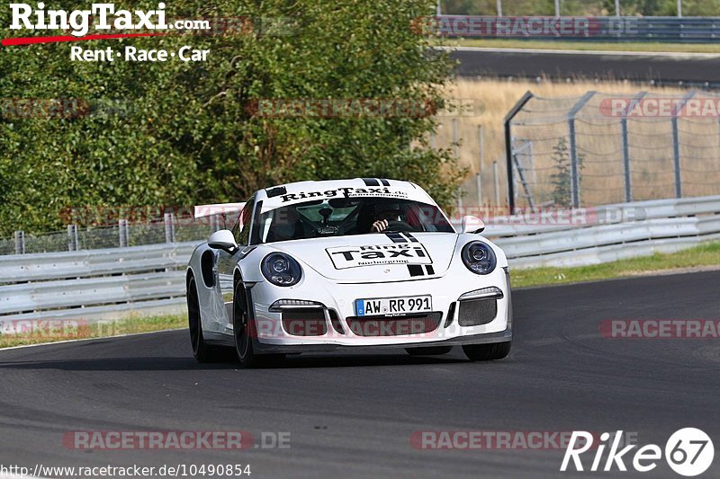
M 678 253 L 655 253 L 619 262 L 572 268 L 532 268 L 511 270 L 514 288 L 579 283 L 599 279 L 626 278 L 657 272 L 683 271 L 698 267 L 720 266 L 720 242 L 701 244 Z

